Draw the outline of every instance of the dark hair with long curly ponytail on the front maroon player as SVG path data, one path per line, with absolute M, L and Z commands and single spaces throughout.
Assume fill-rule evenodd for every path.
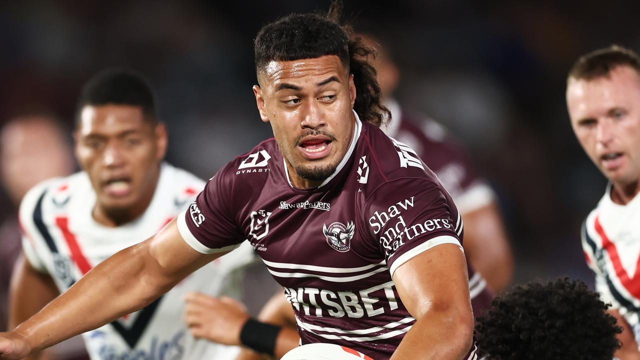
M 356 36 L 351 26 L 340 24 L 342 2 L 333 1 L 326 15 L 291 14 L 266 24 L 255 41 L 255 70 L 262 71 L 270 61 L 313 59 L 336 55 L 353 74 L 356 100 L 353 110 L 360 119 L 380 126 L 391 119 L 381 102 L 376 69 L 367 61 L 374 50 Z

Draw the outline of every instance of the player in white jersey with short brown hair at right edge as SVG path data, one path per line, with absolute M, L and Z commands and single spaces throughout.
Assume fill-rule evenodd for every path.
M 569 72 L 573 131 L 609 179 L 582 227 L 596 290 L 623 332 L 620 359 L 640 359 L 640 58 L 611 46 L 582 56 Z

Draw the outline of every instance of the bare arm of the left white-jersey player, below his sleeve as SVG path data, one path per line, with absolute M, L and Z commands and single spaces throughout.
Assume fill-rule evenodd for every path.
M 39 272 L 20 254 L 13 266 L 13 276 L 9 291 L 9 329 L 35 315 L 51 300 L 60 295 L 51 275 Z M 40 359 L 42 353 L 31 354 L 27 360 Z

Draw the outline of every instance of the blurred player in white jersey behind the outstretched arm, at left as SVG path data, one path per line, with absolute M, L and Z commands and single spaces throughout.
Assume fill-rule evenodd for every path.
M 166 129 L 147 81 L 130 70 L 100 72 L 84 86 L 75 137 L 83 171 L 38 184 L 20 206 L 27 260 L 17 265 L 12 286 L 12 328 L 93 266 L 159 231 L 204 186 L 163 162 Z M 232 357 L 237 349 L 188 333 L 180 322 L 182 296 L 196 289 L 239 296 L 234 270 L 252 259 L 253 249 L 244 250 L 198 270 L 144 309 L 83 334 L 92 359 Z

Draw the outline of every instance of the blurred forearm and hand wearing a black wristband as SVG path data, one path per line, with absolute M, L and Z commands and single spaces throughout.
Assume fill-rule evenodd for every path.
M 300 343 L 291 304 L 282 292 L 262 308 L 258 321 L 249 321 L 243 304 L 228 297 L 189 293 L 185 300 L 184 317 L 191 334 L 216 343 L 244 347 L 236 360 L 260 360 L 265 353 L 280 359 Z

